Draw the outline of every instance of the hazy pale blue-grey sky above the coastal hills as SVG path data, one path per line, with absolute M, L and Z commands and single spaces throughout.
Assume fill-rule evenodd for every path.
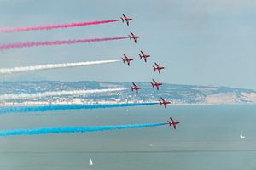
M 53 41 L 95 37 L 142 36 L 128 39 L 52 47 L 16 48 L 0 52 L 0 68 L 103 59 L 136 59 L 70 69 L 25 72 L 0 77 L 0 81 L 111 81 L 221 85 L 256 89 L 256 2 L 252 0 L 109 0 L 32 1 L 0 0 L 0 27 L 44 26 L 79 21 L 121 22 L 51 31 L 1 33 L 0 43 Z M 139 50 L 151 54 L 148 63 Z M 152 65 L 165 65 L 161 75 Z

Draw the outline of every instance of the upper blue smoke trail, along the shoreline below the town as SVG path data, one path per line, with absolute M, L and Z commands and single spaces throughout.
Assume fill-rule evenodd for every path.
M 156 102 L 151 103 L 121 103 L 121 104 L 96 104 L 96 105 L 40 105 L 40 106 L 15 106 L 15 107 L 0 107 L 0 114 L 9 113 L 26 113 L 26 112 L 43 112 L 43 111 L 57 111 L 57 110 L 78 110 L 78 109 L 100 109 L 113 107 L 128 107 L 139 105 L 155 105 Z

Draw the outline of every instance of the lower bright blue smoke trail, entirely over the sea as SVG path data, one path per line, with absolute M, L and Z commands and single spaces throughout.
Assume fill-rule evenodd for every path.
M 0 136 L 15 136 L 15 135 L 40 135 L 49 133 L 89 133 L 105 130 L 117 130 L 125 128 L 142 128 L 142 127 L 158 127 L 168 123 L 154 124 L 131 124 L 119 126 L 102 126 L 102 127 L 42 127 L 36 129 L 16 129 L 9 131 L 0 131 Z

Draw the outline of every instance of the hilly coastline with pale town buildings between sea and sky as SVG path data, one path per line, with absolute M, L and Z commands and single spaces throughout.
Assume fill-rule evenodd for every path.
M 0 82 L 0 96 L 6 94 L 32 94 L 49 91 L 64 91 L 78 89 L 125 88 L 117 92 L 102 94 L 56 95 L 42 98 L 24 98 L 0 100 L 1 106 L 10 105 L 95 105 L 117 103 L 158 102 L 160 96 L 172 101 L 172 105 L 204 105 L 204 104 L 243 104 L 255 103 L 256 92 L 250 89 L 229 88 L 218 86 L 197 86 L 165 84 L 159 93 L 153 90 L 147 82 L 138 82 L 145 88 L 140 95 L 133 94 L 130 82 Z

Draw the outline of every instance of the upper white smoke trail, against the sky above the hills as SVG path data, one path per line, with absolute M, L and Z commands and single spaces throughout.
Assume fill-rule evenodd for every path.
M 47 69 L 67 68 L 67 67 L 75 67 L 75 66 L 101 65 L 101 64 L 108 64 L 108 63 L 113 63 L 118 61 L 119 60 L 101 60 L 101 61 L 85 61 L 85 62 L 77 62 L 77 63 L 21 66 L 21 67 L 0 69 L 0 74 L 13 74 L 13 73 L 24 72 L 24 71 L 41 71 L 41 70 L 47 70 Z

